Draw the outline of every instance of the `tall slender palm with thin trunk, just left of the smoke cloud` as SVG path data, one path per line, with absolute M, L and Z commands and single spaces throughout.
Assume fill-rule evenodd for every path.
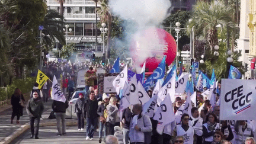
M 112 15 L 111 15 L 110 9 L 108 8 L 108 0 L 101 0 L 101 7 L 98 8 L 97 13 L 100 15 L 101 23 L 107 23 L 108 39 L 107 39 L 106 57 L 109 59 L 110 58 Z

